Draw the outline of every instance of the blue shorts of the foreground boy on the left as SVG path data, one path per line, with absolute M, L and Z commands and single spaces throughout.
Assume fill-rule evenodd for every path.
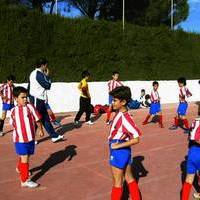
M 35 150 L 35 141 L 27 143 L 15 142 L 15 151 L 20 156 L 32 155 L 34 154 L 34 150 Z

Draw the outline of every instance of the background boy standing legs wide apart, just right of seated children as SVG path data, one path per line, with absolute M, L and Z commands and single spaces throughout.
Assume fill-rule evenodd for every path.
M 159 93 L 158 93 L 158 87 L 159 87 L 158 82 L 154 81 L 153 82 L 153 90 L 151 92 L 151 105 L 150 105 L 149 114 L 147 115 L 146 119 L 142 122 L 142 124 L 146 125 L 151 116 L 158 115 L 159 125 L 160 125 L 161 128 L 164 128 L 164 126 L 163 126 L 163 116 L 162 116 L 161 106 L 160 106 L 160 96 L 159 96 Z

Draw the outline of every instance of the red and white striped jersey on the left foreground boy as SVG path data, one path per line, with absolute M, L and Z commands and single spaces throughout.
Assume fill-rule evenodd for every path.
M 10 119 L 14 128 L 14 142 L 27 143 L 35 139 L 35 122 L 41 117 L 32 104 L 14 107 Z

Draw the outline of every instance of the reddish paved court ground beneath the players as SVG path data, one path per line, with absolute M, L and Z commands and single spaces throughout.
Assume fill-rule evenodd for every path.
M 143 132 L 133 147 L 133 171 L 139 180 L 143 200 L 178 200 L 187 154 L 187 135 L 182 129 L 169 131 L 176 105 L 163 106 L 165 128 L 155 123 L 142 126 L 148 110 L 131 111 Z M 75 113 L 59 114 L 66 140 L 53 144 L 47 137 L 36 147 L 31 160 L 32 179 L 37 189 L 22 189 L 15 172 L 16 155 L 11 132 L 0 138 L 1 200 L 108 200 L 112 186 L 108 165 L 109 127 L 102 115 L 93 126 L 74 128 Z M 190 104 L 189 120 L 197 115 Z M 6 123 L 6 130 L 11 127 Z M 125 195 L 126 196 L 126 195 Z M 126 197 L 123 198 L 127 199 Z

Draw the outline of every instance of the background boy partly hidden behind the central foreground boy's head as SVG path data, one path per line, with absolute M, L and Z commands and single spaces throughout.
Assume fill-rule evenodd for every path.
M 117 87 L 123 86 L 123 84 L 121 83 L 121 81 L 119 80 L 119 72 L 114 71 L 112 73 L 112 80 L 108 81 L 108 92 L 110 93 L 112 90 L 114 90 Z M 112 96 L 108 95 L 108 103 L 109 103 L 109 110 L 107 112 L 107 119 L 106 119 L 106 124 L 110 124 L 110 117 L 111 117 L 111 113 L 112 113 Z

